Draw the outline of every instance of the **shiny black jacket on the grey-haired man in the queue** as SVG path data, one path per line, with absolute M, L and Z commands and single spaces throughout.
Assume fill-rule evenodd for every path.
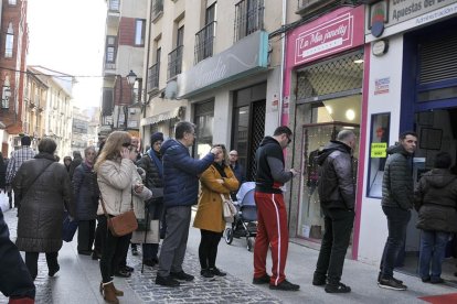
M 319 152 L 318 193 L 322 208 L 353 209 L 355 178 L 351 148 L 340 141 L 330 141 Z

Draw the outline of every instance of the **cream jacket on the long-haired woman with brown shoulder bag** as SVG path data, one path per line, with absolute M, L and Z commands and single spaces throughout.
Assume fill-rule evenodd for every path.
M 100 189 L 100 203 L 97 215 L 104 215 L 102 199 L 106 213 L 120 215 L 131 209 L 131 181 L 137 167 L 131 160 L 106 160 L 97 169 L 97 182 Z

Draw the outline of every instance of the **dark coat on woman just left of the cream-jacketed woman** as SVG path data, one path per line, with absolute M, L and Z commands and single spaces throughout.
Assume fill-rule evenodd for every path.
M 92 167 L 84 162 L 78 165 L 73 174 L 72 185 L 76 203 L 76 219 L 95 219 L 98 207 L 98 185 L 97 176 Z

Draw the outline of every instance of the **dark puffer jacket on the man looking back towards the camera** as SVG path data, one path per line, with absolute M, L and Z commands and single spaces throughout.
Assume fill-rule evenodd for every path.
M 382 180 L 382 205 L 405 210 L 413 208 L 414 182 L 411 166 L 412 154 L 403 145 L 387 148 L 387 161 Z

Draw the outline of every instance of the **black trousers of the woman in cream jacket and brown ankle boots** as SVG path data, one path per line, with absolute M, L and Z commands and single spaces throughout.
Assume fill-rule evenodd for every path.
M 107 228 L 106 217 L 98 218 L 99 225 L 106 231 L 102 247 L 100 272 L 104 283 L 113 281 L 113 274 L 119 270 L 125 254 L 127 254 L 130 245 L 131 234 L 124 237 L 115 237 Z

